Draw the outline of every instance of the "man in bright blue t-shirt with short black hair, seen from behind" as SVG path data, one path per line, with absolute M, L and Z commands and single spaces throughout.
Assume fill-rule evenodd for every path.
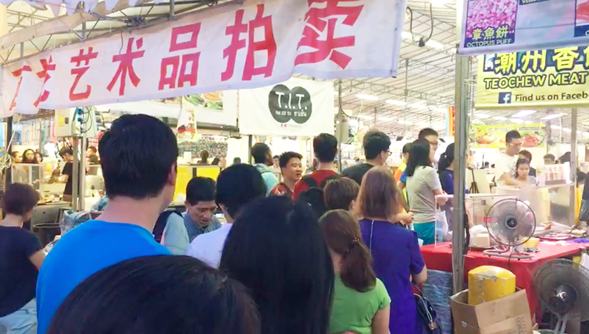
M 45 333 L 61 302 L 80 282 L 133 257 L 170 254 L 152 236 L 175 189 L 176 138 L 147 115 L 124 115 L 99 142 L 108 206 L 96 219 L 65 234 L 37 279 L 38 333 Z

